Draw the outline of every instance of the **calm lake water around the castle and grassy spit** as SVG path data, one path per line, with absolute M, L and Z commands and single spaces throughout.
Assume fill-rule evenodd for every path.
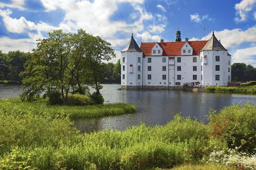
M 159 91 L 121 91 L 119 84 L 103 84 L 101 90 L 105 103 L 133 103 L 137 113 L 103 118 L 82 118 L 75 120 L 75 126 L 81 131 L 102 129 L 124 130 L 142 122 L 146 125 L 164 125 L 172 120 L 176 113 L 195 117 L 207 123 L 209 109 L 219 111 L 225 106 L 251 102 L 256 104 L 256 96 L 240 94 L 212 94 L 174 90 Z M 22 86 L 0 84 L 0 99 L 18 97 Z

